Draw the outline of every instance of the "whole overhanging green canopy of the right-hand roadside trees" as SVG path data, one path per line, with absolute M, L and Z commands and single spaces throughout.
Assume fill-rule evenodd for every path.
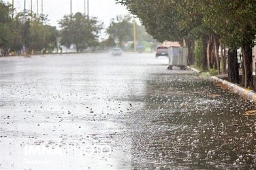
M 159 41 L 215 34 L 234 48 L 256 34 L 255 0 L 116 0 L 137 15 Z

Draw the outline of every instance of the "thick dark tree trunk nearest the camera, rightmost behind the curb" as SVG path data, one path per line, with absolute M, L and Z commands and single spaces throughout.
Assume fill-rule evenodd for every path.
M 250 43 L 242 44 L 243 51 L 243 60 L 244 60 L 244 87 L 249 87 L 254 89 L 253 87 L 253 51 L 250 46 Z

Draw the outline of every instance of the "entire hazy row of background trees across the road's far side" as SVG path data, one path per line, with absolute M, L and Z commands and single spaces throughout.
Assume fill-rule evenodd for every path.
M 47 16 L 37 16 L 32 11 L 23 11 L 13 15 L 12 6 L 0 0 L 0 56 L 10 53 L 19 55 L 51 53 L 54 49 L 62 51 L 61 45 L 70 48 L 74 45 L 77 52 L 89 47 L 111 48 L 118 45 L 123 48 L 125 42 L 133 41 L 133 20 L 129 15 L 111 19 L 105 33 L 107 40 L 99 42 L 103 23 L 96 17 L 76 13 L 65 15 L 58 24 L 60 30 L 47 24 Z M 145 27 L 136 24 L 137 40 L 154 41 L 146 33 Z M 57 38 L 60 37 L 59 44 Z

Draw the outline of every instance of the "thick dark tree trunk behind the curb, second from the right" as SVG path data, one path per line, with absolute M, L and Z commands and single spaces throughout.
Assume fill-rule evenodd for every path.
M 230 82 L 239 84 L 239 68 L 237 62 L 237 51 L 234 49 L 228 49 L 228 80 Z

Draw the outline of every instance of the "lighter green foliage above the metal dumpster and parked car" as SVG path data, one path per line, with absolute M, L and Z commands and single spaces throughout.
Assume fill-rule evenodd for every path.
M 116 0 L 140 18 L 147 32 L 160 42 L 194 37 L 201 29 L 199 7 L 192 0 Z M 196 30 L 196 31 L 195 31 Z

